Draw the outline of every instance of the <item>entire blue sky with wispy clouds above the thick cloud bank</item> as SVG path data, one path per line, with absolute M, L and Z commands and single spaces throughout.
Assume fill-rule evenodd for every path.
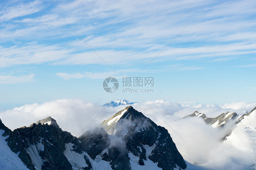
M 63 98 L 255 101 L 255 11 L 254 0 L 1 1 L 0 109 Z M 109 94 L 108 76 L 154 77 L 154 92 Z

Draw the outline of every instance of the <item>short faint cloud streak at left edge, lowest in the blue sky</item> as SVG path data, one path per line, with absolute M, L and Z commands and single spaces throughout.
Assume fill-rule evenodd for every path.
M 19 84 L 32 82 L 33 78 L 34 74 L 22 76 L 0 75 L 0 84 Z

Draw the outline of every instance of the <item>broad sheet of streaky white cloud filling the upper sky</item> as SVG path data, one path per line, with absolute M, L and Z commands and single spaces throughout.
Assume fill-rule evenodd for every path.
M 45 6 L 47 5 L 40 1 L 20 2 L 17 6 L 5 9 L 20 10 L 21 12 L 16 12 L 20 15 L 9 13 L 7 15 L 7 12 L 2 10 L 0 15 L 2 20 L 15 20 L 3 22 L 0 41 L 12 39 L 34 42 L 39 38 L 46 41 L 61 39 L 58 45 L 61 45 L 62 50 L 56 50 L 51 55 L 48 54 L 51 52 L 42 49 L 45 50 L 45 54 L 41 53 L 41 55 L 44 55 L 45 59 L 46 56 L 51 56 L 51 60 L 38 61 L 40 59 L 34 57 L 35 60 L 31 61 L 27 60 L 27 55 L 19 53 L 18 49 L 24 49 L 22 46 L 24 44 L 17 44 L 14 49 L 17 49 L 15 53 L 20 57 L 12 59 L 11 54 L 6 54 L 1 57 L 2 66 L 10 66 L 11 63 L 15 65 L 49 61 L 56 61 L 55 64 L 61 65 L 103 64 L 68 25 L 71 25 L 109 64 L 127 64 L 132 60 L 143 62 L 155 57 L 188 24 L 187 29 L 159 55 L 161 59 L 157 61 L 200 58 L 220 60 L 220 56 L 236 55 L 237 57 L 256 53 L 254 50 L 256 44 L 252 42 L 254 32 L 251 31 L 251 28 L 255 27 L 255 22 L 251 22 L 250 18 L 256 6 L 253 1 L 213 3 L 197 0 L 192 3 L 189 0 L 181 0 L 160 3 L 158 1 L 114 3 L 105 0 L 98 2 L 76 0 L 53 4 L 51 10 L 41 15 L 17 18 L 42 10 Z M 237 17 L 241 20 L 235 20 Z M 69 39 L 62 41 L 65 38 Z M 214 43 L 211 44 L 209 40 Z M 189 43 L 189 45 L 175 47 L 176 43 Z M 43 46 L 51 48 L 52 44 L 47 43 Z M 35 49 L 34 45 L 26 47 L 31 54 L 33 49 Z M 1 51 L 7 49 L 2 48 Z M 63 58 L 66 59 L 62 60 Z M 85 58 L 87 60 L 84 60 Z

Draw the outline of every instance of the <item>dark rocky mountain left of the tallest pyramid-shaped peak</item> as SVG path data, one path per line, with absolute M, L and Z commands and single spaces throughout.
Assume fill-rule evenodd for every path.
M 69 132 L 62 131 L 56 120 L 46 118 L 51 125 L 42 125 L 40 122 L 32 124 L 30 127 L 22 127 L 9 132 L 10 137 L 6 140 L 10 149 L 19 154 L 20 159 L 30 170 L 36 170 L 35 162 L 27 152 L 38 151 L 42 160 L 41 170 L 72 170 L 72 165 L 64 155 L 65 144 L 72 143 L 75 146 L 73 151 L 82 153 L 80 141 Z M 49 120 L 49 121 L 48 121 Z M 41 121 L 41 120 L 40 120 Z M 40 150 L 40 146 L 43 146 Z M 88 166 L 85 170 L 91 169 L 90 161 L 85 157 Z M 40 160 L 39 160 L 40 162 Z

